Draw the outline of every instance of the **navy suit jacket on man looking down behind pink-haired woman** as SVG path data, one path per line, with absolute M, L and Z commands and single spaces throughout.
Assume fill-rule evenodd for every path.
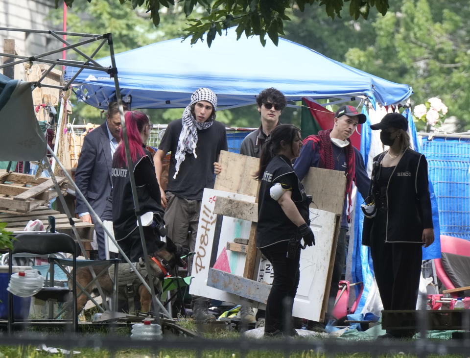
M 85 136 L 75 172 L 75 184 L 100 217 L 106 208 L 106 198 L 111 193 L 112 163 L 105 121 Z M 75 212 L 88 211 L 84 201 L 77 195 Z

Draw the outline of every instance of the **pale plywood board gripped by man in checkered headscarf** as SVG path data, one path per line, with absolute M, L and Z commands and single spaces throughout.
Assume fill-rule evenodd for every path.
M 222 172 L 215 178 L 215 190 L 256 196 L 258 181 L 253 178 L 253 175 L 259 167 L 258 158 L 222 150 L 219 163 Z

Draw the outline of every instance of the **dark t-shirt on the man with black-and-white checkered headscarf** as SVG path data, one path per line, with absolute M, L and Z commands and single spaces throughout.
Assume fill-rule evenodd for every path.
M 162 142 L 158 149 L 165 153 L 171 151 L 170 167 L 168 172 L 167 191 L 188 200 L 202 200 L 204 188 L 213 188 L 214 162 L 217 162 L 220 151 L 227 150 L 227 134 L 225 126 L 214 120 L 212 125 L 203 130 L 197 130 L 196 155 L 186 153 L 180 170 L 173 179 L 176 170 L 175 152 L 178 146 L 183 124 L 177 119 L 168 124 Z

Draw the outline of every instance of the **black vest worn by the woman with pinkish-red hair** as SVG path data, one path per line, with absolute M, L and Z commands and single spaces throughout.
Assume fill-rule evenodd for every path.
M 113 157 L 113 228 L 117 240 L 127 237 L 137 227 L 137 216 L 134 210 L 131 181 L 127 166 L 118 165 L 116 155 Z M 136 181 L 137 197 L 141 213 L 160 213 L 163 217 L 164 210 L 161 204 L 160 187 L 155 177 L 155 167 L 150 153 L 139 158 L 134 163 L 134 177 Z

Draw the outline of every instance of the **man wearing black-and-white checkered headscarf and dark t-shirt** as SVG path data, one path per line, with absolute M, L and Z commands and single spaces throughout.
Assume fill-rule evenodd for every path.
M 227 150 L 225 126 L 215 120 L 216 107 L 217 96 L 210 89 L 196 90 L 182 118 L 168 124 L 154 156 L 162 205 L 166 207 L 167 236 L 189 251 L 195 251 L 204 188 L 213 187 L 214 173 L 220 172 L 217 163 L 220 151 Z M 168 186 L 164 191 L 161 176 L 168 152 L 171 152 Z M 193 296 L 196 319 L 215 319 L 208 312 L 208 303 L 203 297 Z

